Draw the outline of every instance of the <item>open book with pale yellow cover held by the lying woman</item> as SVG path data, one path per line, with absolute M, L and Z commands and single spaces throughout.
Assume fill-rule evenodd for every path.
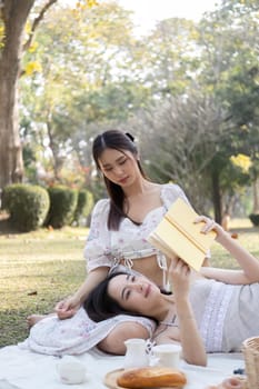
M 199 271 L 216 238 L 216 232 L 200 232 L 202 222 L 193 222 L 197 217 L 198 213 L 186 201 L 178 198 L 158 227 L 149 235 L 148 241 L 167 257 L 177 255 Z

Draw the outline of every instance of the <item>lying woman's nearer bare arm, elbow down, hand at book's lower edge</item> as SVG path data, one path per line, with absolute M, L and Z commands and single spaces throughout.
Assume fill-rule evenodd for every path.
M 182 356 L 188 363 L 206 366 L 205 345 L 199 333 L 196 318 L 189 301 L 190 269 L 181 259 L 172 259 L 169 276 L 173 285 L 176 311 L 179 322 L 179 338 L 176 339 L 176 328 L 168 327 L 159 337 L 158 342 L 180 340 Z

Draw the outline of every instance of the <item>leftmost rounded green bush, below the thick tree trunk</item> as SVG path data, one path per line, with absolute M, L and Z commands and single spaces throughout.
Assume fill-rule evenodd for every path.
M 43 226 L 50 207 L 48 191 L 39 186 L 13 183 L 2 193 L 2 208 L 10 215 L 10 227 L 28 232 Z

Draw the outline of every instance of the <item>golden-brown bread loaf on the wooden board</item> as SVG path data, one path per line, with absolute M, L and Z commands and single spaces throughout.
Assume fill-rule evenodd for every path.
M 123 388 L 181 388 L 187 383 L 183 372 L 166 367 L 143 367 L 124 370 L 118 378 L 117 385 Z

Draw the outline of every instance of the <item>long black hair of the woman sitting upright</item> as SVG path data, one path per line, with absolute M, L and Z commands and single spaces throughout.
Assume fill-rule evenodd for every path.
M 100 170 L 99 159 L 106 149 L 114 149 L 118 151 L 130 151 L 135 157 L 138 156 L 138 149 L 135 143 L 135 138 L 130 133 L 124 133 L 119 130 L 108 130 L 97 136 L 92 143 L 92 157 L 97 168 Z M 147 176 L 137 160 L 140 173 L 147 179 Z M 120 221 L 126 217 L 123 211 L 124 192 L 120 186 L 111 182 L 107 177 L 103 177 L 107 191 L 110 197 L 110 211 L 108 216 L 108 229 L 118 231 Z

